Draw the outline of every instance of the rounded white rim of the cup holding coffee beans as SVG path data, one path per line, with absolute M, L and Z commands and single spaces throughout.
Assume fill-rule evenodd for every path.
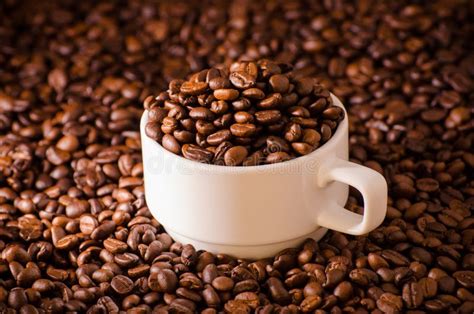
M 247 173 L 247 172 L 255 172 L 255 171 L 264 171 L 264 170 L 283 170 L 285 168 L 293 168 L 299 163 L 304 163 L 308 160 L 311 160 L 315 157 L 317 157 L 320 154 L 324 154 L 327 151 L 330 150 L 336 150 L 335 145 L 339 141 L 342 140 L 344 137 L 344 133 L 348 132 L 348 127 L 349 127 L 349 122 L 348 122 L 348 116 L 347 116 L 347 111 L 342 102 L 337 98 L 333 93 L 330 93 L 331 98 L 333 100 L 334 105 L 342 108 L 344 111 L 344 119 L 339 123 L 336 133 L 333 134 L 333 136 L 324 143 L 322 146 L 318 147 L 311 153 L 304 155 L 304 156 L 299 156 L 291 160 L 283 161 L 283 162 L 278 162 L 274 164 L 266 164 L 266 165 L 256 165 L 256 166 L 223 166 L 223 165 L 214 165 L 214 164 L 206 164 L 206 163 L 201 163 L 198 161 L 193 161 L 189 160 L 183 156 L 176 155 L 167 149 L 165 149 L 160 143 L 157 141 L 149 138 L 145 134 L 145 125 L 148 122 L 148 114 L 147 110 L 145 110 L 142 114 L 141 118 L 141 126 L 140 126 L 140 136 L 142 137 L 142 152 L 143 152 L 143 146 L 144 145 L 151 145 L 154 150 L 158 150 L 160 153 L 164 154 L 164 156 L 167 158 L 170 158 L 173 160 L 173 162 L 178 162 L 182 163 L 186 167 L 192 167 L 192 168 L 199 168 L 200 170 L 204 171 L 211 171 L 211 172 L 218 172 L 218 173 L 229 173 L 229 174 L 236 174 L 236 173 Z M 148 142 L 147 143 L 145 143 Z

